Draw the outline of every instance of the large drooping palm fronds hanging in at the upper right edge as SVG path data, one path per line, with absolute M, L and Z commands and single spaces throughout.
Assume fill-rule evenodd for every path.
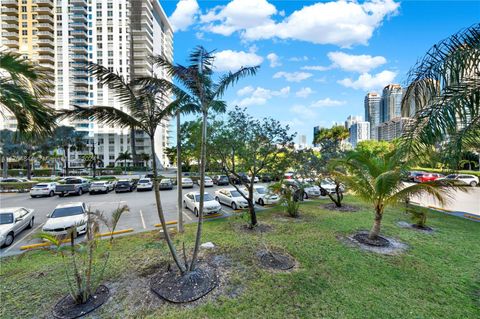
M 442 144 L 452 167 L 463 149 L 478 149 L 480 24 L 434 45 L 408 74 L 402 113 L 415 115 L 404 143 L 414 156 Z

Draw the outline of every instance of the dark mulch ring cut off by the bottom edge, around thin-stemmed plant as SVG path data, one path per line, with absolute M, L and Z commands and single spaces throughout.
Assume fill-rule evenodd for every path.
M 80 318 L 103 305 L 109 296 L 110 291 L 103 285 L 99 286 L 95 294 L 84 304 L 76 304 L 73 298 L 68 295 L 60 299 L 53 307 L 52 314 L 59 319 Z

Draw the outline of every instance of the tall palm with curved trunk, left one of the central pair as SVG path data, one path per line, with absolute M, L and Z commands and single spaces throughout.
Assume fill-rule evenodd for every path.
M 170 253 L 179 271 L 183 274 L 186 267 L 180 262 L 177 251 L 167 231 L 165 214 L 158 189 L 157 161 L 155 158 L 155 132 L 162 121 L 175 112 L 180 100 L 164 105 L 169 94 L 165 81 L 156 77 L 148 77 L 127 82 L 121 75 L 109 71 L 106 67 L 91 64 L 89 71 L 102 85 L 108 85 L 113 94 L 128 111 L 122 111 L 111 106 L 76 106 L 73 110 L 63 110 L 61 118 L 95 119 L 106 125 L 115 125 L 121 128 L 135 127 L 144 131 L 150 138 L 150 153 L 152 154 L 153 183 L 157 213 L 163 229 L 163 235 Z

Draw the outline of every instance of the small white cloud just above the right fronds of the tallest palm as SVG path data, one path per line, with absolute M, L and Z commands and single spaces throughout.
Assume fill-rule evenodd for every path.
M 216 71 L 236 71 L 262 62 L 263 58 L 254 52 L 224 50 L 215 53 L 214 67 Z

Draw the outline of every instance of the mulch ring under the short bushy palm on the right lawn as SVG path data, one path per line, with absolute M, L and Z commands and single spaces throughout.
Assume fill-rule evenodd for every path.
M 378 236 L 372 240 L 368 238 L 368 231 L 359 231 L 347 237 L 340 236 L 339 239 L 350 246 L 382 255 L 397 255 L 408 248 L 406 244 L 390 237 Z

